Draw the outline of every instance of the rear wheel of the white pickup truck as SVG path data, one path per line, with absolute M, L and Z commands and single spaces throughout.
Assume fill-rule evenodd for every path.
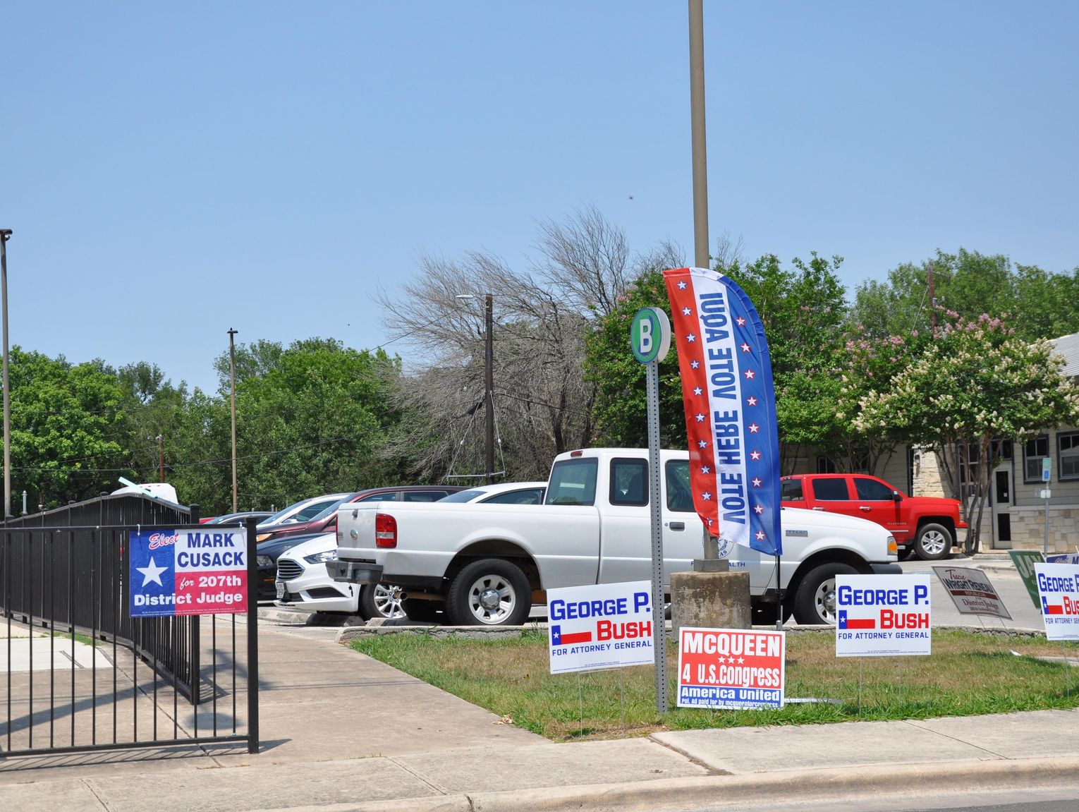
M 462 569 L 446 598 L 455 626 L 519 626 L 532 609 L 532 590 L 520 568 L 505 558 L 480 558 Z

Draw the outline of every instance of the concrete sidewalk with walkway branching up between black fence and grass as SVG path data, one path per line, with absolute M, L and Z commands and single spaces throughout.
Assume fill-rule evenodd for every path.
M 1070 710 L 554 744 L 343 648 L 339 630 L 262 615 L 259 754 L 0 757 L 0 809 L 684 810 L 1079 781 Z

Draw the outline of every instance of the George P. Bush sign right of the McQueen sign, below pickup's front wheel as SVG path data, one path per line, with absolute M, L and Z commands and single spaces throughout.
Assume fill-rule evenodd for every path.
M 928 654 L 929 573 L 835 577 L 835 655 Z

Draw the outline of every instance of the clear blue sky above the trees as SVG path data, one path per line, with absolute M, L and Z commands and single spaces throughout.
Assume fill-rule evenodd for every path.
M 710 242 L 1079 266 L 1079 3 L 705 2 Z M 422 253 L 595 205 L 693 255 L 685 2 L 0 0 L 10 341 L 213 391 Z M 397 349 L 397 346 L 388 348 Z

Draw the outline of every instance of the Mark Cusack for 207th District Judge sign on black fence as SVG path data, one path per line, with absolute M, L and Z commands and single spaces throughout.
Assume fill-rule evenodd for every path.
M 139 530 L 128 551 L 133 618 L 247 611 L 246 530 Z

